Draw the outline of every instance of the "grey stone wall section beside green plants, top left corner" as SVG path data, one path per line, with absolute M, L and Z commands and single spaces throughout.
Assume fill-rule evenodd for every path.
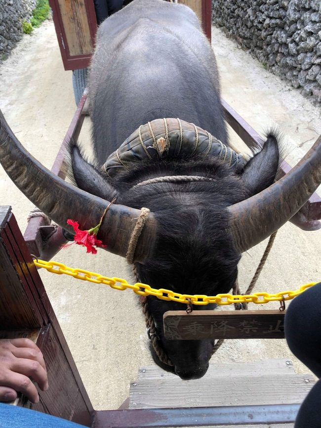
M 0 61 L 23 36 L 22 21 L 29 21 L 37 0 L 0 0 Z

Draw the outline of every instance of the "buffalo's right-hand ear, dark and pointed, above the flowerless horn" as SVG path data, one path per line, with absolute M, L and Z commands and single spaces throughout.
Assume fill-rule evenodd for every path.
M 262 150 L 247 162 L 241 173 L 242 187 L 248 198 L 273 184 L 278 173 L 279 160 L 277 137 L 269 134 Z

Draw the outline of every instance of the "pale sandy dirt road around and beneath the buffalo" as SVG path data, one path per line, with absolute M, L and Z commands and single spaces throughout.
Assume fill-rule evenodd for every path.
M 247 53 L 213 29 L 223 97 L 258 132 L 277 125 L 294 165 L 321 132 L 320 110 L 296 89 L 268 73 Z M 0 67 L 0 108 L 23 145 L 51 168 L 75 111 L 71 72 L 63 69 L 51 21 L 26 36 Z M 80 135 L 90 150 L 89 119 Z M 233 141 L 237 141 L 231 135 Z M 0 169 L 0 202 L 11 205 L 20 228 L 33 205 Z M 264 243 L 245 253 L 240 263 L 242 290 L 248 285 Z M 276 292 L 321 279 L 321 231 L 302 232 L 283 226 L 258 281 L 257 291 Z M 100 251 L 86 255 L 71 247 L 55 259 L 109 276 L 130 279 L 126 262 Z M 80 375 L 96 409 L 115 409 L 127 397 L 129 384 L 142 365 L 153 364 L 147 349 L 142 314 L 130 292 L 117 292 L 40 272 Z M 80 283 L 79 283 L 80 282 Z M 257 308 L 257 307 L 255 307 Z M 213 356 L 216 361 L 292 358 L 284 341 L 227 341 Z M 295 361 L 298 371 L 306 369 Z

